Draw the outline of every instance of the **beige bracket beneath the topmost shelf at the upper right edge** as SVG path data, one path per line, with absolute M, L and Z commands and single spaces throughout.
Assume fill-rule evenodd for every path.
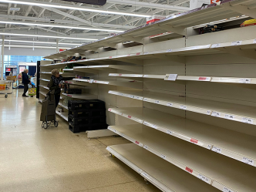
M 222 7 L 233 10 L 234 12 L 239 12 L 241 14 L 247 15 L 251 18 L 256 19 L 256 11 L 248 8 L 247 5 L 231 5 L 230 3 L 221 4 Z

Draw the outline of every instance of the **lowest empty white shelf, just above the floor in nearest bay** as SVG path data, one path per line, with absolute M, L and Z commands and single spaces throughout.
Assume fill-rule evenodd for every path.
M 133 143 L 109 146 L 106 150 L 162 191 L 218 191 Z

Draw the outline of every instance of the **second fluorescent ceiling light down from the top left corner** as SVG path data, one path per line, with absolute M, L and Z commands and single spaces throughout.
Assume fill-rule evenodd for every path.
M 64 28 L 64 29 L 83 29 L 83 30 L 92 30 L 92 31 L 99 31 L 99 32 L 124 32 L 121 30 L 114 30 L 114 29 L 94 29 L 94 28 L 87 28 L 87 27 L 75 27 L 75 26 L 66 26 L 66 25 L 49 25 L 49 24 L 40 24 L 40 23 L 31 23 L 31 22 L 0 21 L 0 23 L 12 24 L 12 25 L 32 25 L 32 26 L 42 26 L 42 27 L 56 27 L 56 28 Z

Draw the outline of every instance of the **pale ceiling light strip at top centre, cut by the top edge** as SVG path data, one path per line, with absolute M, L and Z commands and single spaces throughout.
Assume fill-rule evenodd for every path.
M 133 6 L 142 6 L 147 8 L 161 8 L 164 10 L 173 10 L 173 11 L 179 11 L 179 12 L 187 12 L 190 10 L 190 8 L 185 7 L 179 7 L 175 5 L 163 5 L 163 4 L 157 4 L 157 3 L 151 3 L 151 2 L 132 2 L 127 0 L 108 0 L 108 2 L 120 4 L 120 5 L 133 5 Z

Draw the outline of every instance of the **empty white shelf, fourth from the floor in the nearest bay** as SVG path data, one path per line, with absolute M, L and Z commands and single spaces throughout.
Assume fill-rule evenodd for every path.
M 143 97 L 143 101 L 145 102 L 256 125 L 256 107 L 254 106 L 243 106 L 233 103 L 217 102 L 192 97 L 179 97 L 152 92 L 134 93 L 133 91 L 109 91 L 109 93 L 119 96 L 127 96 L 132 99 L 141 99 L 141 97 Z

